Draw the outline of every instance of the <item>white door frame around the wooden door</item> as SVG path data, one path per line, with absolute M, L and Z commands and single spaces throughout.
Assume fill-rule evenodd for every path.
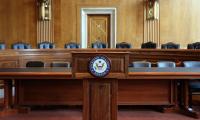
M 89 14 L 110 15 L 110 48 L 115 48 L 116 34 L 117 34 L 117 9 L 112 7 L 81 8 L 81 48 L 87 48 L 87 43 L 88 43 L 87 17 Z

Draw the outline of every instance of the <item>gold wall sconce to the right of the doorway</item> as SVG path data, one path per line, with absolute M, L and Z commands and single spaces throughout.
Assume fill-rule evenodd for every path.
M 146 1 L 146 19 L 147 20 L 159 19 L 159 0 Z

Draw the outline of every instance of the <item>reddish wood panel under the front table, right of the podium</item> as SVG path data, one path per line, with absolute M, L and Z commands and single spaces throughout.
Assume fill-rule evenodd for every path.
M 143 84 L 144 82 L 145 84 Z M 171 101 L 171 97 L 173 98 L 171 91 L 174 93 L 174 89 L 170 87 L 171 85 L 173 86 L 174 83 L 171 84 L 171 81 L 169 80 L 160 80 L 159 84 L 157 83 L 157 80 L 136 80 L 126 82 L 124 82 L 124 80 L 119 80 L 118 105 L 174 104 L 174 101 Z M 148 98 L 148 100 L 146 98 Z

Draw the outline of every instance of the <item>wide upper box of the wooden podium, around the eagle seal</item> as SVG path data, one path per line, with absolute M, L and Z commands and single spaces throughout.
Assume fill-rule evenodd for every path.
M 72 52 L 72 71 L 76 78 L 88 77 L 89 61 L 96 55 L 106 56 L 111 62 L 110 74 L 106 78 L 125 78 L 128 72 L 128 52 Z

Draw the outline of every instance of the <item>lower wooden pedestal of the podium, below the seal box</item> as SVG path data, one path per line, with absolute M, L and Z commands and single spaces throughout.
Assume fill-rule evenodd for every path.
M 83 120 L 117 120 L 117 80 L 84 81 Z

